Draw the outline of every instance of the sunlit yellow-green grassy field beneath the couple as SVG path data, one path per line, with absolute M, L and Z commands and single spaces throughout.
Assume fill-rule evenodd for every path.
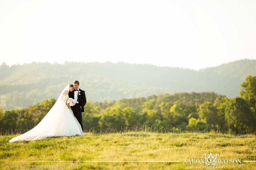
M 244 162 L 256 160 L 256 136 L 254 134 L 150 131 L 85 132 L 84 134 L 84 136 L 47 137 L 42 140 L 13 143 L 8 141 L 17 134 L 1 135 L 0 169 L 15 169 L 6 168 L 6 165 L 19 165 L 16 169 L 28 165 L 48 166 L 43 169 L 54 169 L 50 167 L 54 165 L 69 166 L 69 168 L 56 167 L 55 169 L 196 169 L 196 166 L 204 166 L 204 164 L 184 164 L 184 159 L 203 159 L 203 153 L 207 156 L 209 153 L 213 155 L 219 153 L 220 159 L 241 159 L 241 164 L 216 165 L 222 166 L 223 169 L 224 166 L 225 169 L 256 169 L 256 162 Z

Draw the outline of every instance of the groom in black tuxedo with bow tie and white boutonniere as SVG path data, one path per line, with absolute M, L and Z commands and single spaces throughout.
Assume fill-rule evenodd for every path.
M 69 92 L 68 96 L 76 101 L 76 104 L 71 106 L 71 109 L 83 130 L 82 112 L 84 112 L 84 105 L 86 104 L 85 92 L 79 89 L 79 81 L 75 80 L 73 85 L 75 90 Z

